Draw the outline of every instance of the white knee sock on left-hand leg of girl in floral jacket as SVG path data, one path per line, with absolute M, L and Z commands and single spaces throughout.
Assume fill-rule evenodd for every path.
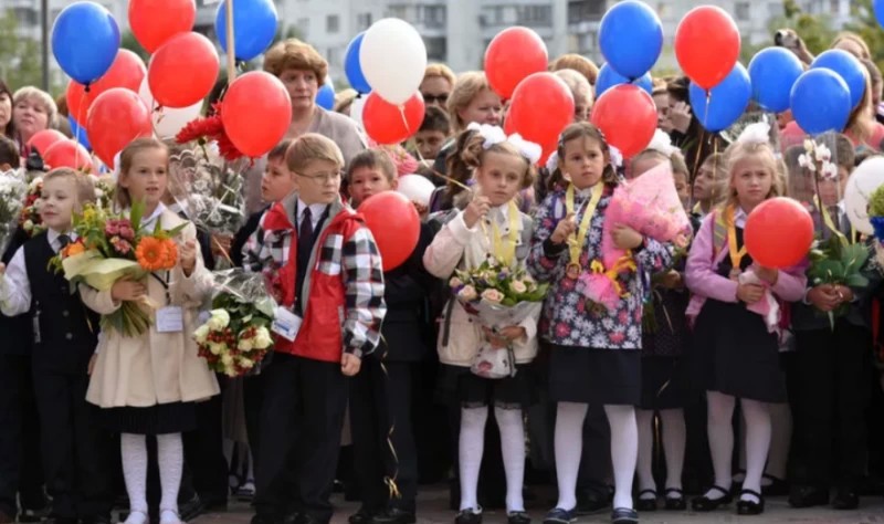
M 556 475 L 559 484 L 559 501 L 556 507 L 573 510 L 577 506 L 577 473 L 580 454 L 583 452 L 583 419 L 586 404 L 559 402 L 556 413 Z

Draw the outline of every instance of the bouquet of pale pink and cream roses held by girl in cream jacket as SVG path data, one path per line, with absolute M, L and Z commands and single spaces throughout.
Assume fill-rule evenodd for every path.
M 466 313 L 495 335 L 530 316 L 538 317 L 549 287 L 538 284 L 524 269 L 513 270 L 493 256 L 472 271 L 456 271 L 449 284 Z M 514 376 L 512 346 L 502 352 L 486 340 L 472 371 L 485 378 Z

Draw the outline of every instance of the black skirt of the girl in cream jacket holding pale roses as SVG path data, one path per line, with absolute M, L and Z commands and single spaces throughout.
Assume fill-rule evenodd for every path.
M 469 367 L 443 364 L 436 387 L 440 401 L 463 408 L 526 409 L 537 401 L 534 364 L 516 364 L 516 375 L 506 378 L 483 378 Z

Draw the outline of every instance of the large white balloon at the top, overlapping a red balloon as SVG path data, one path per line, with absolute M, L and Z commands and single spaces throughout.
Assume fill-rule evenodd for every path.
M 404 104 L 423 81 L 427 46 L 411 24 L 385 18 L 366 31 L 359 65 L 371 91 L 390 104 Z

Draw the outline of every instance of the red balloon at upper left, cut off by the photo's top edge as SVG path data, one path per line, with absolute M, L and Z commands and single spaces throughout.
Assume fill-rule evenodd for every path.
M 148 53 L 176 34 L 189 32 L 196 20 L 197 2 L 193 0 L 129 1 L 129 28 Z

